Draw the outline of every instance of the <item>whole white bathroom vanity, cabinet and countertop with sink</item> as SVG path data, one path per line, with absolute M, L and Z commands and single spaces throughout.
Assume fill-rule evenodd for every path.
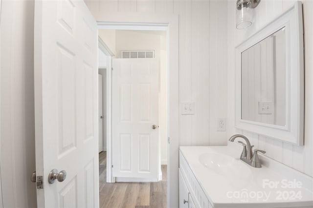
M 242 147 L 180 146 L 179 208 L 313 208 L 313 178 L 260 154 L 262 167 L 240 160 Z

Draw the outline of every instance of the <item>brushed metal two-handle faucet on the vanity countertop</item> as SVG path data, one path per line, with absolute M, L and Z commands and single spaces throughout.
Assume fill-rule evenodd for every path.
M 252 153 L 253 145 L 251 146 L 248 138 L 246 138 L 246 136 L 244 136 L 242 134 L 235 134 L 235 135 L 231 136 L 229 138 L 229 141 L 234 142 L 234 140 L 237 137 L 243 138 L 246 141 L 246 144 L 241 142 L 241 141 L 238 142 L 239 144 L 244 146 L 244 149 L 243 149 L 241 156 L 240 156 L 240 160 L 244 161 L 246 164 L 248 164 L 252 167 L 262 167 L 261 161 L 260 161 L 259 156 L 258 156 L 258 152 L 262 152 L 263 154 L 265 154 L 266 151 L 260 150 L 260 149 L 254 149 L 253 153 Z

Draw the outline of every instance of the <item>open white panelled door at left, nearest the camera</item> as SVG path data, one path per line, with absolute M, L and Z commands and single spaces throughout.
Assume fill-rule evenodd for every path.
M 96 22 L 82 0 L 35 1 L 34 21 L 37 205 L 99 207 Z

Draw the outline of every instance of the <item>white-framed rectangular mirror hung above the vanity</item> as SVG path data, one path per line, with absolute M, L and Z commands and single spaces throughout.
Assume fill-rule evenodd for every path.
M 304 143 L 301 1 L 236 47 L 236 127 Z

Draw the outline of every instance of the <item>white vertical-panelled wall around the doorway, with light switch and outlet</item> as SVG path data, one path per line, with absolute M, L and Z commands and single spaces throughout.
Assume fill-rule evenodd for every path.
M 195 102 L 195 115 L 179 116 L 179 144 L 226 145 L 216 118 L 227 116 L 227 1 L 86 0 L 91 13 L 179 14 L 179 101 Z

